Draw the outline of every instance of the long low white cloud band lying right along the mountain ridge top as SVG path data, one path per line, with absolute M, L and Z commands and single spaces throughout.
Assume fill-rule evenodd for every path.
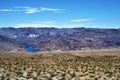
M 6 26 L 7 27 L 7 26 Z M 85 27 L 85 28 L 113 28 L 112 26 L 107 26 L 107 25 L 85 25 L 85 24 L 43 24 L 43 23 L 26 23 L 26 24 L 16 24 L 12 27 L 15 28 L 28 28 L 28 27 L 33 27 L 33 28 L 80 28 L 80 27 Z

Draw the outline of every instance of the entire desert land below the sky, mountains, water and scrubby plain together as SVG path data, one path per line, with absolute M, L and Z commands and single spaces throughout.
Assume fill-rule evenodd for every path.
M 120 29 L 0 28 L 0 80 L 119 80 Z

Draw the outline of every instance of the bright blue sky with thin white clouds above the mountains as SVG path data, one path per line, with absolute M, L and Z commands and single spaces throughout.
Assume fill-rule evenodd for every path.
M 120 0 L 0 0 L 0 27 L 120 28 Z

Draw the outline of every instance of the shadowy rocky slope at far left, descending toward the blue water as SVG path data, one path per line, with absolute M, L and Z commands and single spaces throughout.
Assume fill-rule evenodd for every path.
M 24 51 L 24 45 L 14 39 L 10 39 L 5 36 L 0 36 L 0 52 L 5 51 L 10 52 Z

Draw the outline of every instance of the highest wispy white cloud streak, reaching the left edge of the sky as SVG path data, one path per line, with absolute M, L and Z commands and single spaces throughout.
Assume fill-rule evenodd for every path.
M 32 14 L 37 12 L 54 12 L 54 13 L 61 13 L 64 9 L 57 9 L 57 8 L 47 8 L 47 7 L 40 7 L 40 8 L 34 8 L 34 7 L 14 7 L 12 9 L 0 9 L 0 12 L 24 12 L 26 14 Z

